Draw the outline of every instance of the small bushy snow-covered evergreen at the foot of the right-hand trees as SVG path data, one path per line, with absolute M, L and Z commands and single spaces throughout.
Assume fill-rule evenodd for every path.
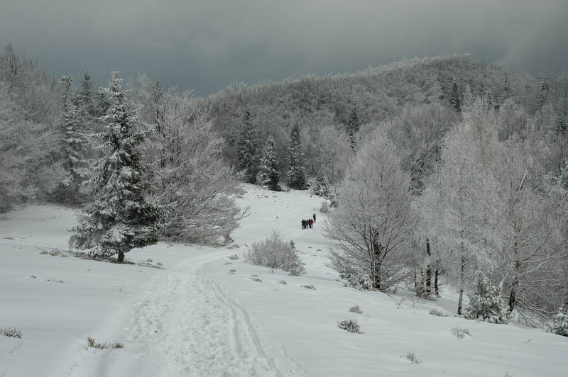
M 469 300 L 464 317 L 490 323 L 509 322 L 507 310 L 501 302 L 501 288 L 493 286 L 484 274 L 479 274 L 477 293 Z

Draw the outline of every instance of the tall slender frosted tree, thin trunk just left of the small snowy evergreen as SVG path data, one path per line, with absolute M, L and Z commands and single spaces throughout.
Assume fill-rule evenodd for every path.
M 444 138 L 439 168 L 418 201 L 428 226 L 447 245 L 447 271 L 458 280 L 459 315 L 474 272 L 480 264 L 491 264 L 491 220 L 498 211 L 498 184 L 486 162 L 492 160 L 488 145 L 496 141 L 484 102 L 464 108 L 464 122 Z

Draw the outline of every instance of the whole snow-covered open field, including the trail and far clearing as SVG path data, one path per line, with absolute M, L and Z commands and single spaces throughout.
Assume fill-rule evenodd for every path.
M 0 335 L 0 376 L 567 376 L 568 338 L 453 317 L 452 291 L 427 301 L 344 287 L 325 266 L 321 199 L 245 188 L 240 203 L 251 216 L 233 245 L 160 242 L 126 254 L 136 264 L 65 252 L 72 210 L 4 214 L 0 330 L 22 336 Z M 302 230 L 314 212 L 315 228 Z M 228 258 L 273 228 L 295 242 L 307 274 Z M 55 249 L 62 255 L 41 254 Z M 353 305 L 363 313 L 350 313 Z M 364 334 L 337 327 L 349 318 Z M 471 335 L 459 339 L 456 327 Z M 124 348 L 89 348 L 87 337 Z

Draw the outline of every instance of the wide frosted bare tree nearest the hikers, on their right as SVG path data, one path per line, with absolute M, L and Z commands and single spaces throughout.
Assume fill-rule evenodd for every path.
M 395 146 L 376 130 L 347 170 L 339 207 L 324 226 L 333 269 L 367 275 L 380 290 L 407 278 L 405 243 L 417 220 L 409 187 Z

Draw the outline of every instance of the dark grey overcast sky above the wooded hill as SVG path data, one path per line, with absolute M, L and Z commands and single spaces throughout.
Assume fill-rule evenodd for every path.
M 566 75 L 568 0 L 0 0 L 7 43 L 58 77 L 146 72 L 200 95 L 464 52 Z

